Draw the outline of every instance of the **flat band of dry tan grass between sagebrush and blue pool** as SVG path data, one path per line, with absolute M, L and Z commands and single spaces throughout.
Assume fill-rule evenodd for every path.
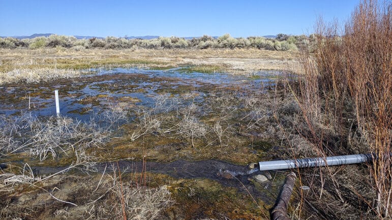
M 65 49 L 1 49 L 0 85 L 38 83 L 78 77 L 89 68 L 142 67 L 168 68 L 195 66 L 202 71 L 252 74 L 262 69 L 288 69 L 298 72 L 296 52 L 258 49 L 124 49 L 81 51 Z

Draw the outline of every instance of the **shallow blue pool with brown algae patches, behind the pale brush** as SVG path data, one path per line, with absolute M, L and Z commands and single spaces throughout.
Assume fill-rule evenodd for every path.
M 262 91 L 282 76 L 281 71 L 256 72 L 251 77 L 225 73 L 202 73 L 187 68 L 166 70 L 140 68 L 91 69 L 93 75 L 72 80 L 59 80 L 43 85 L 13 85 L 0 87 L 0 115 L 21 112 L 36 116 L 55 115 L 54 90 L 59 90 L 60 113 L 63 116 L 88 121 L 108 104 L 122 103 L 127 108 L 151 107 L 162 94 L 178 96 L 197 94 L 201 102 L 211 88 L 234 87 Z

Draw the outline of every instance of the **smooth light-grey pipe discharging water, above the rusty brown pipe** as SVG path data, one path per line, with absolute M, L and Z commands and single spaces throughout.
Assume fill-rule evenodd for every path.
M 336 166 L 343 164 L 356 164 L 371 161 L 372 154 L 354 154 L 333 157 L 305 158 L 295 160 L 276 160 L 259 162 L 259 170 L 284 170 L 303 167 Z

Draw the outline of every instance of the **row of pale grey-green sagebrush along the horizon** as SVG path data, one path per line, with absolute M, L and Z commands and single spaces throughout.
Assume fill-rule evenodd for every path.
M 83 49 L 207 49 L 207 48 L 257 48 L 275 51 L 297 51 L 309 49 L 314 45 L 316 36 L 278 34 L 275 39 L 262 36 L 248 38 L 233 38 L 224 34 L 218 38 L 203 35 L 200 38 L 184 39 L 176 36 L 155 39 L 126 39 L 107 36 L 104 39 L 76 39 L 75 36 L 57 35 L 38 36 L 33 39 L 0 38 L 0 48 L 3 49 L 42 49 L 68 48 L 76 51 Z

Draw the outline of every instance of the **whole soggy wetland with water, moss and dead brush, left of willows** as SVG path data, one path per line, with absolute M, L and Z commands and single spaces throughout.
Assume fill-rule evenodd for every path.
M 125 204 L 129 218 L 269 216 L 284 173 L 246 171 L 284 155 L 270 129 L 287 73 L 198 70 L 101 67 L 0 86 L 2 216 L 122 218 Z

